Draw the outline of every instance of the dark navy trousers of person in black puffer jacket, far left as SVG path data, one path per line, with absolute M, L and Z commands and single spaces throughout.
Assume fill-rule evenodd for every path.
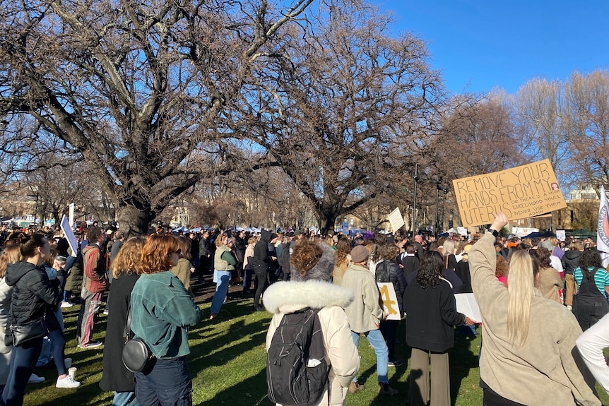
M 23 405 L 25 386 L 42 351 L 42 337 L 35 338 L 24 345 L 13 347 L 6 386 L 2 391 L 2 400 L 6 406 Z

